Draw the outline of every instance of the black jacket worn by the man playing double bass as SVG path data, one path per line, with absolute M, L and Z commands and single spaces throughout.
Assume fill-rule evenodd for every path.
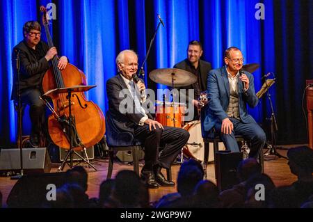
M 11 100 L 15 100 L 17 97 L 17 70 L 16 70 L 16 49 L 19 51 L 20 61 L 20 85 L 19 88 L 24 90 L 26 88 L 42 88 L 42 78 L 45 72 L 49 69 L 49 62 L 45 58 L 48 45 L 45 42 L 40 41 L 36 46 L 38 55 L 34 53 L 34 50 L 26 45 L 24 40 L 16 45 L 12 52 L 12 66 L 13 66 L 13 88 L 11 94 Z

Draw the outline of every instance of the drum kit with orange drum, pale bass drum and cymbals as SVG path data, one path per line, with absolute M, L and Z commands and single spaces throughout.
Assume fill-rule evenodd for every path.
M 259 68 L 259 64 L 250 63 L 243 65 L 243 70 L 250 73 L 255 72 Z M 180 70 L 177 68 L 162 68 L 153 70 L 150 72 L 149 77 L 157 84 L 163 84 L 166 86 L 176 87 L 190 86 L 197 81 L 195 74 L 186 70 Z M 207 93 L 202 92 L 199 98 L 200 109 L 207 103 Z M 204 143 L 201 134 L 200 120 L 194 120 L 184 124 L 184 113 L 186 104 L 179 102 L 161 102 L 156 101 L 156 120 L 163 126 L 179 127 L 186 129 L 189 134 L 188 143 L 186 143 L 184 149 L 184 156 L 197 159 L 199 161 L 204 160 Z M 210 144 L 209 161 L 214 160 L 213 145 Z M 219 144 L 219 150 L 225 150 L 223 143 Z

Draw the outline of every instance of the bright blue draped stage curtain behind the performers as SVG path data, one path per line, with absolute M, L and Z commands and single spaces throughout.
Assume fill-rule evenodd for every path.
M 301 100 L 305 79 L 313 79 L 310 0 L 13 0 L 0 2 L 1 145 L 14 145 L 16 139 L 16 113 L 10 101 L 12 49 L 22 40 L 24 22 L 41 21 L 39 6 L 49 2 L 56 6 L 51 33 L 58 54 L 67 56 L 70 63 L 82 70 L 88 84 L 97 85 L 87 95 L 102 111 L 108 109 L 105 84 L 116 74 L 115 56 L 122 49 L 134 49 L 141 64 L 159 14 L 165 27 L 159 27 L 145 64 L 147 87 L 166 88 L 147 76 L 154 69 L 172 68 L 186 58 L 190 40 L 203 43 L 203 59 L 211 62 L 213 68 L 223 65 L 227 47 L 239 47 L 245 63 L 260 64 L 253 73 L 256 90 L 262 86 L 263 74 L 276 74 L 271 95 L 280 129 L 278 142 L 307 142 Z M 255 5 L 259 2 L 264 3 L 264 20 L 255 18 L 259 10 Z M 250 113 L 268 132 L 266 118 L 271 116 L 271 109 L 266 97 Z M 28 130 L 29 118 L 24 117 L 24 132 Z

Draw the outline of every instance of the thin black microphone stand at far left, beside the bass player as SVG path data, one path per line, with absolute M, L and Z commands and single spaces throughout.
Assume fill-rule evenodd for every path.
M 19 49 L 16 52 L 16 70 L 17 70 L 17 148 L 19 149 L 19 159 L 20 159 L 20 175 L 10 177 L 11 180 L 17 180 L 24 175 L 23 170 L 23 149 L 22 149 L 22 102 L 21 102 L 21 92 L 20 92 L 20 62 L 19 62 Z

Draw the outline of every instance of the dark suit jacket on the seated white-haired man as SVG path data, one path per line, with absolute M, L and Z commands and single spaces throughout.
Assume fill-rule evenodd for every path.
M 115 127 L 117 127 L 119 132 L 131 132 L 134 135 L 134 127 L 136 127 L 143 118 L 141 113 L 121 113 L 120 104 L 125 102 L 125 97 L 120 97 L 120 91 L 125 90 L 126 96 L 131 98 L 132 110 L 135 110 L 135 104 L 132 100 L 131 92 L 128 90 L 125 81 L 122 79 L 120 74 L 115 75 L 108 81 L 106 81 L 106 96 L 109 100 L 109 114 L 113 121 Z M 147 116 L 151 119 L 150 113 Z

